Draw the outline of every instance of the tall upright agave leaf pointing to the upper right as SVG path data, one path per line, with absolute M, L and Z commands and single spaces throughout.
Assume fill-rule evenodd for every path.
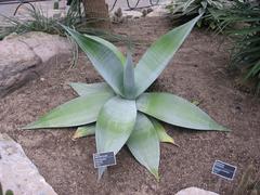
M 143 93 L 166 68 L 200 16 L 164 35 L 145 52 L 134 69 L 135 96 Z

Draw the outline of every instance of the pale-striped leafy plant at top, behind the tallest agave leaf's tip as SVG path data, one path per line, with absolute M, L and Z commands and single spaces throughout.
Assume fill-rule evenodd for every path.
M 225 0 L 173 0 L 167 8 L 173 22 L 185 22 L 204 13 L 197 26 L 217 29 L 219 20 L 216 18 L 216 11 L 229 5 L 229 1 Z

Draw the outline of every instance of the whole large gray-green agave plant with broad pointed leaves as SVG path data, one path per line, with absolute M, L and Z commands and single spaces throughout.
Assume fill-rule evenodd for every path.
M 126 144 L 136 160 L 159 179 L 159 142 L 173 143 L 159 120 L 195 130 L 226 130 L 180 96 L 144 93 L 199 17 L 160 37 L 135 67 L 130 53 L 125 57 L 110 42 L 65 27 L 106 82 L 72 83 L 79 98 L 54 108 L 25 129 L 78 127 L 74 138 L 95 134 L 98 153 L 117 154 Z M 99 178 L 105 169 L 99 168 Z

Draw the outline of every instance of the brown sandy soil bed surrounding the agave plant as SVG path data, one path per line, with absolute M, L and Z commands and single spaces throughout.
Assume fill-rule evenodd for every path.
M 120 34 L 143 41 L 135 47 L 140 58 L 147 46 L 170 29 L 167 20 L 145 18 L 115 26 Z M 232 132 L 202 132 L 165 125 L 180 147 L 161 144 L 160 182 L 141 167 L 123 148 L 117 166 L 99 183 L 93 168 L 94 138 L 73 141 L 75 129 L 25 131 L 21 128 L 51 108 L 76 96 L 70 81 L 102 80 L 80 55 L 76 68 L 69 58 L 56 60 L 48 73 L 0 100 L 0 131 L 24 147 L 41 174 L 60 195 L 87 194 L 174 194 L 198 186 L 231 195 L 249 164 L 260 168 L 260 101 L 237 89 L 227 69 L 224 38 L 195 29 L 152 90 L 172 92 L 199 107 Z M 234 181 L 211 174 L 216 159 L 237 166 Z

